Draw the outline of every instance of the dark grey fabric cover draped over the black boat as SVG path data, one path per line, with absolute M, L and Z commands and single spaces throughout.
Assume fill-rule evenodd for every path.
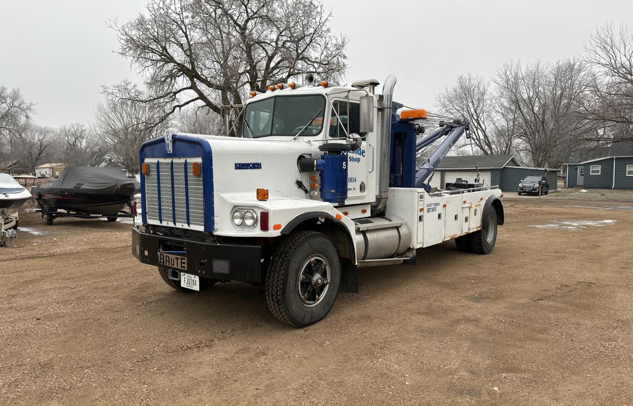
M 71 166 L 64 169 L 60 177 L 41 185 L 40 192 L 52 193 L 58 190 L 74 189 L 87 194 L 134 195 L 139 185 L 131 180 L 120 168 L 105 166 Z

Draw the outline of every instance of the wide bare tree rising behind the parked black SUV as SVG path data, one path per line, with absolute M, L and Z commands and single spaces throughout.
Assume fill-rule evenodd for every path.
M 591 132 L 578 114 L 591 82 L 582 61 L 506 63 L 494 81 L 501 111 L 516 116 L 513 130 L 534 165 L 559 166 L 567 148 Z

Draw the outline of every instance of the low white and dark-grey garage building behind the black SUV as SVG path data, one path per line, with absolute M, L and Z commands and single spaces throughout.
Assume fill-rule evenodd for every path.
M 474 183 L 479 168 L 479 181 L 485 186 L 499 186 L 504 192 L 516 192 L 518 183 L 530 175 L 546 175 L 555 190 L 556 175 L 560 169 L 530 168 L 522 166 L 514 155 L 446 156 L 437 166 L 429 184 L 446 187 L 457 178 Z

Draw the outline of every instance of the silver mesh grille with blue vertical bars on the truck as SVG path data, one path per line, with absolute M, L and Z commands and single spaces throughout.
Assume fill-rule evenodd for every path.
M 193 175 L 192 163 L 194 162 L 201 163 L 201 160 L 187 159 L 185 181 L 185 159 L 146 160 L 147 166 L 149 166 L 149 173 L 145 175 L 145 201 L 147 221 L 149 223 L 174 226 L 173 219 L 175 216 L 175 226 L 197 230 L 204 229 L 203 175 Z M 187 185 L 186 188 L 185 184 Z M 187 190 L 189 191 L 188 206 Z M 189 209 L 189 225 L 187 225 L 187 207 Z

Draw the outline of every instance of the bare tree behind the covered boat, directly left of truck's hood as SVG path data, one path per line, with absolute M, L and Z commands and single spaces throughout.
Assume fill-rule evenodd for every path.
M 142 97 L 135 90 L 135 98 Z M 130 173 L 139 173 L 141 144 L 163 134 L 167 123 L 150 126 L 163 114 L 164 110 L 155 104 L 107 96 L 97 106 L 91 131 L 108 158 Z

